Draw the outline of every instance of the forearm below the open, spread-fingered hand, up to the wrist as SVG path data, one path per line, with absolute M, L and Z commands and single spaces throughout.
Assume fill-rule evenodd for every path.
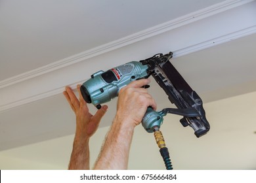
M 68 169 L 89 170 L 89 158 L 89 138 L 79 139 L 75 137 Z

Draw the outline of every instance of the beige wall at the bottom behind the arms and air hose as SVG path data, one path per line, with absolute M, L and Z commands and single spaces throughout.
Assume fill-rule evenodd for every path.
M 168 114 L 161 126 L 175 169 L 256 169 L 256 92 L 205 103 L 211 130 L 197 139 L 180 116 Z M 91 139 L 91 164 L 109 127 Z M 74 136 L 0 152 L 0 169 L 67 169 Z M 135 130 L 129 169 L 165 169 L 154 135 Z

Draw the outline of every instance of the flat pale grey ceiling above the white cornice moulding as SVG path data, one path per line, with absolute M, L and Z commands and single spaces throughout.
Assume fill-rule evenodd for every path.
M 0 80 L 221 1 L 3 0 Z

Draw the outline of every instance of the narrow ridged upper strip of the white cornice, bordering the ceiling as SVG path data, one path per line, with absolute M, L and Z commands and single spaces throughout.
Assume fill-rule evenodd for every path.
M 24 80 L 28 80 L 30 78 L 44 75 L 51 71 L 55 71 L 62 67 L 67 67 L 79 61 L 84 61 L 89 58 L 93 58 L 94 56 L 98 56 L 100 54 L 104 54 L 106 52 L 110 52 L 112 50 L 116 50 L 123 46 L 127 46 L 129 44 L 133 44 L 138 41 L 142 41 L 144 39 L 148 39 L 149 37 L 153 37 L 164 33 L 166 31 L 170 31 L 177 27 L 181 27 L 187 24 L 191 24 L 192 22 L 196 22 L 198 20 L 202 20 L 203 18 L 207 18 L 209 16 L 213 16 L 214 14 L 219 14 L 220 12 L 229 10 L 231 8 L 235 8 L 245 3 L 250 3 L 255 0 L 232 0 L 232 1 L 223 1 L 216 5 L 212 5 L 207 8 L 203 8 L 202 10 L 192 12 L 175 20 L 171 20 L 169 22 L 165 22 L 160 25 L 156 25 L 154 27 L 150 27 L 144 31 L 140 31 L 139 33 L 135 33 L 133 35 L 129 35 L 127 37 L 123 37 L 118 39 L 117 41 L 109 42 L 107 44 L 103 44 L 91 50 L 87 50 L 80 54 L 70 56 L 69 58 L 61 59 L 59 61 L 55 61 L 54 63 L 50 63 L 43 67 L 39 67 L 37 69 L 33 69 L 32 71 L 28 71 L 26 73 L 22 73 L 20 75 L 13 76 L 11 78 L 7 78 L 5 80 L 0 81 L 0 89 L 10 86 L 12 84 L 16 84 L 17 82 L 22 82 Z

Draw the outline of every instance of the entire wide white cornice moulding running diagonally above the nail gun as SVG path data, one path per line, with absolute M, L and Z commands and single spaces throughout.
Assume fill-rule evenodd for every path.
M 159 50 L 163 54 L 165 51 L 173 51 L 174 57 L 179 57 L 256 33 L 256 20 L 253 16 L 255 7 L 255 1 L 224 1 L 45 67 L 2 80 L 0 112 L 62 93 L 64 86 L 67 85 L 75 88 L 76 84 L 82 83 L 93 74 L 85 73 L 81 68 L 90 68 L 88 70 L 91 72 L 103 69 L 102 65 L 94 64 L 103 60 L 103 57 L 109 64 L 122 64 L 120 60 L 131 52 L 135 58 L 140 59 Z M 246 21 L 238 24 L 233 20 L 234 17 Z M 219 27 L 226 25 L 227 22 L 228 26 Z M 202 35 L 201 31 L 207 31 L 208 34 Z M 180 41 L 184 37 L 186 41 Z M 170 44 L 169 48 L 166 48 L 167 44 Z

